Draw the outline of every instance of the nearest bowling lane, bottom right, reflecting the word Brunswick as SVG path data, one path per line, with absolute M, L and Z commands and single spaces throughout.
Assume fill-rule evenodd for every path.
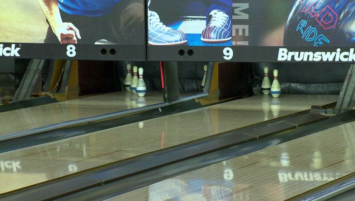
M 284 201 L 355 172 L 355 122 L 106 201 Z

